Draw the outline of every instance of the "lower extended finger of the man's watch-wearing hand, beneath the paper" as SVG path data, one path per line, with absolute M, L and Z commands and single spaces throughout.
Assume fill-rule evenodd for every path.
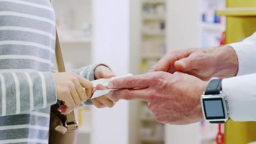
M 141 100 L 150 101 L 150 96 L 147 95 L 146 89 L 120 89 L 108 93 L 111 99 L 124 99 L 124 100 Z

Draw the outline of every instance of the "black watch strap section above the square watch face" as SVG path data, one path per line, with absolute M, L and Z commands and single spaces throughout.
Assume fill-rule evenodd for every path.
M 220 95 L 222 79 L 213 79 L 207 85 L 204 95 Z

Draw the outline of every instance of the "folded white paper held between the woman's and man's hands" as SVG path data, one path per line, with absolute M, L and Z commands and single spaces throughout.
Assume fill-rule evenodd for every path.
M 95 81 L 92 81 L 93 88 L 96 88 L 96 86 L 98 84 L 102 84 L 105 87 L 107 87 L 108 86 L 108 82 L 112 81 L 113 79 L 123 78 L 123 77 L 127 77 L 127 76 L 132 76 L 132 74 L 129 73 L 127 75 L 112 77 L 110 79 L 97 79 Z M 118 90 L 118 89 L 97 90 L 97 91 L 94 92 L 94 94 L 92 95 L 91 99 L 98 98 L 98 97 L 100 97 L 102 95 L 107 95 L 110 91 L 115 91 L 115 90 Z

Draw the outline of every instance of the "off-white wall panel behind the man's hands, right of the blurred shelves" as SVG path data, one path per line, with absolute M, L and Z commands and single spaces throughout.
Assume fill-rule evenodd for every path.
M 200 47 L 200 0 L 167 0 L 167 49 Z M 199 144 L 200 124 L 166 125 L 165 144 Z

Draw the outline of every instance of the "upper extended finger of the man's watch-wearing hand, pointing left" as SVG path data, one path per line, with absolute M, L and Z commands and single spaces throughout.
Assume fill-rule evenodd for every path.
M 108 83 L 108 88 L 147 88 L 150 79 L 149 73 L 114 79 Z

